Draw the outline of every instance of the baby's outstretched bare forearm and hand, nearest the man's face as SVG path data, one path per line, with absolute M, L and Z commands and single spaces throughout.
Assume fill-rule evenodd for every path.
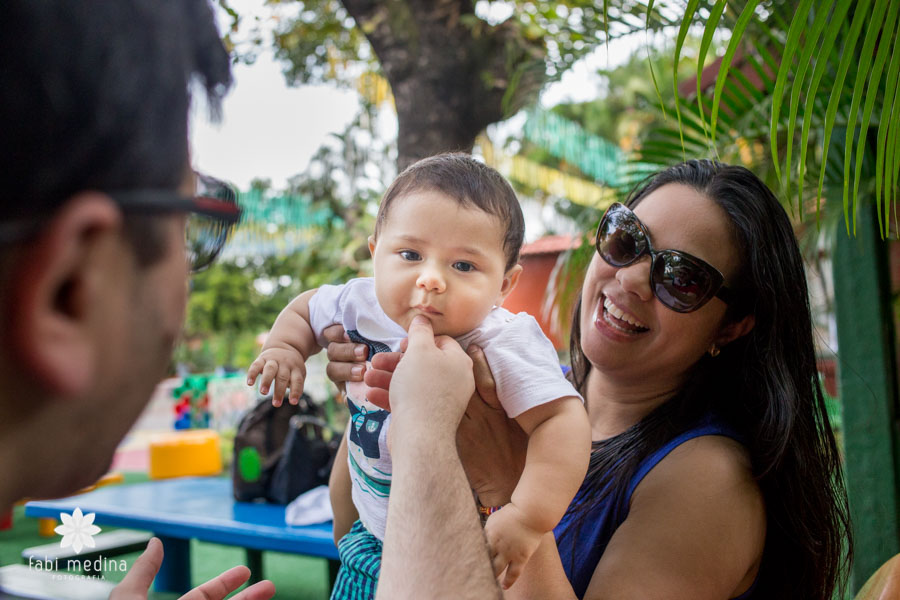
M 303 393 L 306 359 L 320 350 L 309 324 L 309 299 L 316 290 L 308 290 L 294 298 L 275 319 L 262 351 L 247 370 L 247 384 L 253 385 L 262 374 L 260 391 L 268 393 L 274 380 L 272 402 L 281 404 L 290 388 L 290 402 L 296 404 Z

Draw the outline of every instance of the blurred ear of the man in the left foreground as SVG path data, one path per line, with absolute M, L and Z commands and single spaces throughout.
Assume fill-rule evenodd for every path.
M 80 193 L 57 210 L 12 269 L 12 350 L 22 375 L 54 394 L 77 395 L 91 384 L 99 350 L 91 316 L 101 309 L 95 303 L 104 282 L 97 275 L 104 252 L 121 252 L 112 246 L 120 229 L 121 213 L 108 196 Z

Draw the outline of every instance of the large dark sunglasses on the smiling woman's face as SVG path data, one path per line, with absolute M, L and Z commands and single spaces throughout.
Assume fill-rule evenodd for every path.
M 734 294 L 712 265 L 679 250 L 654 250 L 644 224 L 631 209 L 616 202 L 597 229 L 597 254 L 613 267 L 627 267 L 650 255 L 650 289 L 663 305 L 680 313 L 692 312 L 713 296 L 726 304 Z

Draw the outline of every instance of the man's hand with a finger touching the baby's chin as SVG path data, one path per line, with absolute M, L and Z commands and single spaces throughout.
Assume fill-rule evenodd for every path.
M 391 431 L 398 425 L 430 435 L 456 428 L 475 391 L 472 359 L 451 337 L 434 337 L 431 322 L 417 316 L 409 326 L 409 343 L 390 381 Z M 409 425 L 405 422 L 409 420 Z M 455 445 L 455 441 L 454 441 Z

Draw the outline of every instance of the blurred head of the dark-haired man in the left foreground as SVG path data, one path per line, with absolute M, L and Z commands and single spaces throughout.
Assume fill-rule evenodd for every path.
M 117 195 L 191 194 L 189 90 L 215 108 L 231 75 L 207 0 L 6 0 L 0 22 L 0 469 L 4 494 L 59 494 L 108 466 L 183 316 L 184 214 Z

